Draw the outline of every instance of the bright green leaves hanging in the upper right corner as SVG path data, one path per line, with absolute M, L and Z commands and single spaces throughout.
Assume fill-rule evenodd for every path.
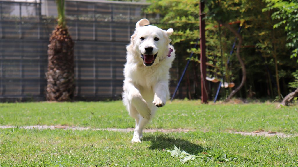
M 285 29 L 287 33 L 286 46 L 292 50 L 291 58 L 297 57 L 298 53 L 298 1 L 297 0 L 265 0 L 268 4 L 266 11 L 273 11 L 271 18 L 278 22 L 273 25 L 273 28 Z M 298 62 L 298 59 L 297 59 Z

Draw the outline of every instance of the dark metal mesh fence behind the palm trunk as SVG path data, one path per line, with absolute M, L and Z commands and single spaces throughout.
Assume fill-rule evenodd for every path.
M 66 1 L 75 40 L 76 99 L 119 99 L 125 46 L 148 4 Z M 57 15 L 53 0 L 0 1 L 0 100 L 45 100 L 47 45 Z M 148 16 L 147 16 L 148 17 Z

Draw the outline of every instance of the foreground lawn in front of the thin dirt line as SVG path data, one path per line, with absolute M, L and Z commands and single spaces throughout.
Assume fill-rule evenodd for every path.
M 133 133 L 91 130 L 0 130 L 0 166 L 298 166 L 298 137 L 278 138 L 200 131 L 145 133 L 131 144 Z M 192 160 L 181 165 L 164 150 L 195 155 L 236 154 L 250 160 L 217 163 Z

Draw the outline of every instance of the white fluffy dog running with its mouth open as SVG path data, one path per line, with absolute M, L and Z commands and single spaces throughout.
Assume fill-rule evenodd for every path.
M 130 116 L 136 119 L 132 143 L 141 142 L 145 124 L 170 98 L 169 69 L 175 50 L 169 37 L 173 29 L 165 31 L 149 24 L 147 19 L 138 21 L 126 47 L 122 97 Z

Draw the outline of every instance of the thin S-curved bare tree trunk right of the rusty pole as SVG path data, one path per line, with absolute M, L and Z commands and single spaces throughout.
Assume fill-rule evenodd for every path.
M 228 23 L 223 23 L 222 25 L 224 25 L 227 29 L 229 29 L 237 38 L 238 38 L 238 45 L 237 45 L 237 51 L 236 51 L 236 55 L 238 58 L 238 61 L 240 62 L 241 68 L 242 68 L 242 80 L 240 85 L 234 89 L 229 96 L 226 98 L 226 102 L 230 101 L 231 98 L 242 88 L 242 86 L 244 85 L 245 81 L 246 81 L 246 68 L 244 65 L 244 62 L 242 61 L 241 57 L 240 57 L 240 47 L 242 45 L 242 36 L 235 31 Z

